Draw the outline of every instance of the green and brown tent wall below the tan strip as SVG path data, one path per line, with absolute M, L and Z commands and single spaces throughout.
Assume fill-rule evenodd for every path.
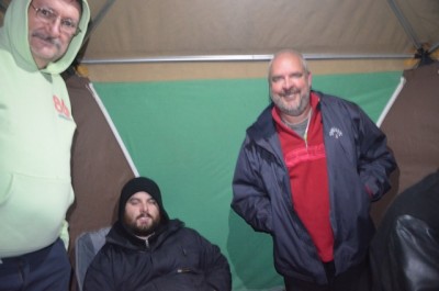
M 392 191 L 373 206 L 376 223 L 397 193 L 439 165 L 439 124 L 432 122 L 439 109 L 438 70 L 434 64 L 403 77 L 394 71 L 315 77 L 315 87 L 353 96 L 376 122 L 385 115 L 382 128 L 398 170 Z M 79 77 L 70 78 L 76 83 Z M 233 268 L 234 290 L 278 290 L 282 282 L 272 268 L 269 236 L 255 233 L 229 209 L 244 131 L 268 104 L 266 80 L 79 80 L 85 87 L 71 94 L 74 112 L 82 114 L 76 116 L 70 235 L 108 225 L 123 182 L 139 172 L 159 182 L 171 216 L 221 246 Z M 117 134 L 109 134 L 111 127 Z

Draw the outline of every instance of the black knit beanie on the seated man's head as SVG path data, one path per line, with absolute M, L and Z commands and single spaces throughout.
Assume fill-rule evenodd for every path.
M 119 200 L 119 220 L 123 222 L 125 213 L 125 204 L 128 199 L 137 192 L 147 192 L 156 200 L 157 205 L 160 210 L 161 222 L 166 223 L 169 221 L 168 213 L 166 213 L 164 204 L 161 202 L 161 193 L 157 183 L 151 179 L 145 177 L 137 177 L 130 180 L 122 189 L 121 199 Z

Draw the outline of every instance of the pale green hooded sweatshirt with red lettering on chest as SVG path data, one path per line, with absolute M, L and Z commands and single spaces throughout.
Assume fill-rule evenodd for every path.
M 66 54 L 38 69 L 27 36 L 31 0 L 13 0 L 0 29 L 0 258 L 35 251 L 61 237 L 74 201 L 71 141 L 76 128 L 60 72 L 83 42 L 90 10 L 82 0 L 81 32 Z

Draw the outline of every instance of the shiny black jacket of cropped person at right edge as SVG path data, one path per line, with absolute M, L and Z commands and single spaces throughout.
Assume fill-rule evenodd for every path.
M 439 290 L 439 169 L 392 202 L 371 249 L 373 291 Z

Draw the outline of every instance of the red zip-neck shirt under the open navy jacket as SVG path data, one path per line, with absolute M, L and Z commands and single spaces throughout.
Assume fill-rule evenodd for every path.
M 293 208 L 308 231 L 323 261 L 334 259 L 334 234 L 329 221 L 329 188 L 318 97 L 311 96 L 312 116 L 305 141 L 288 127 L 274 107 L 272 116 L 290 174 Z

